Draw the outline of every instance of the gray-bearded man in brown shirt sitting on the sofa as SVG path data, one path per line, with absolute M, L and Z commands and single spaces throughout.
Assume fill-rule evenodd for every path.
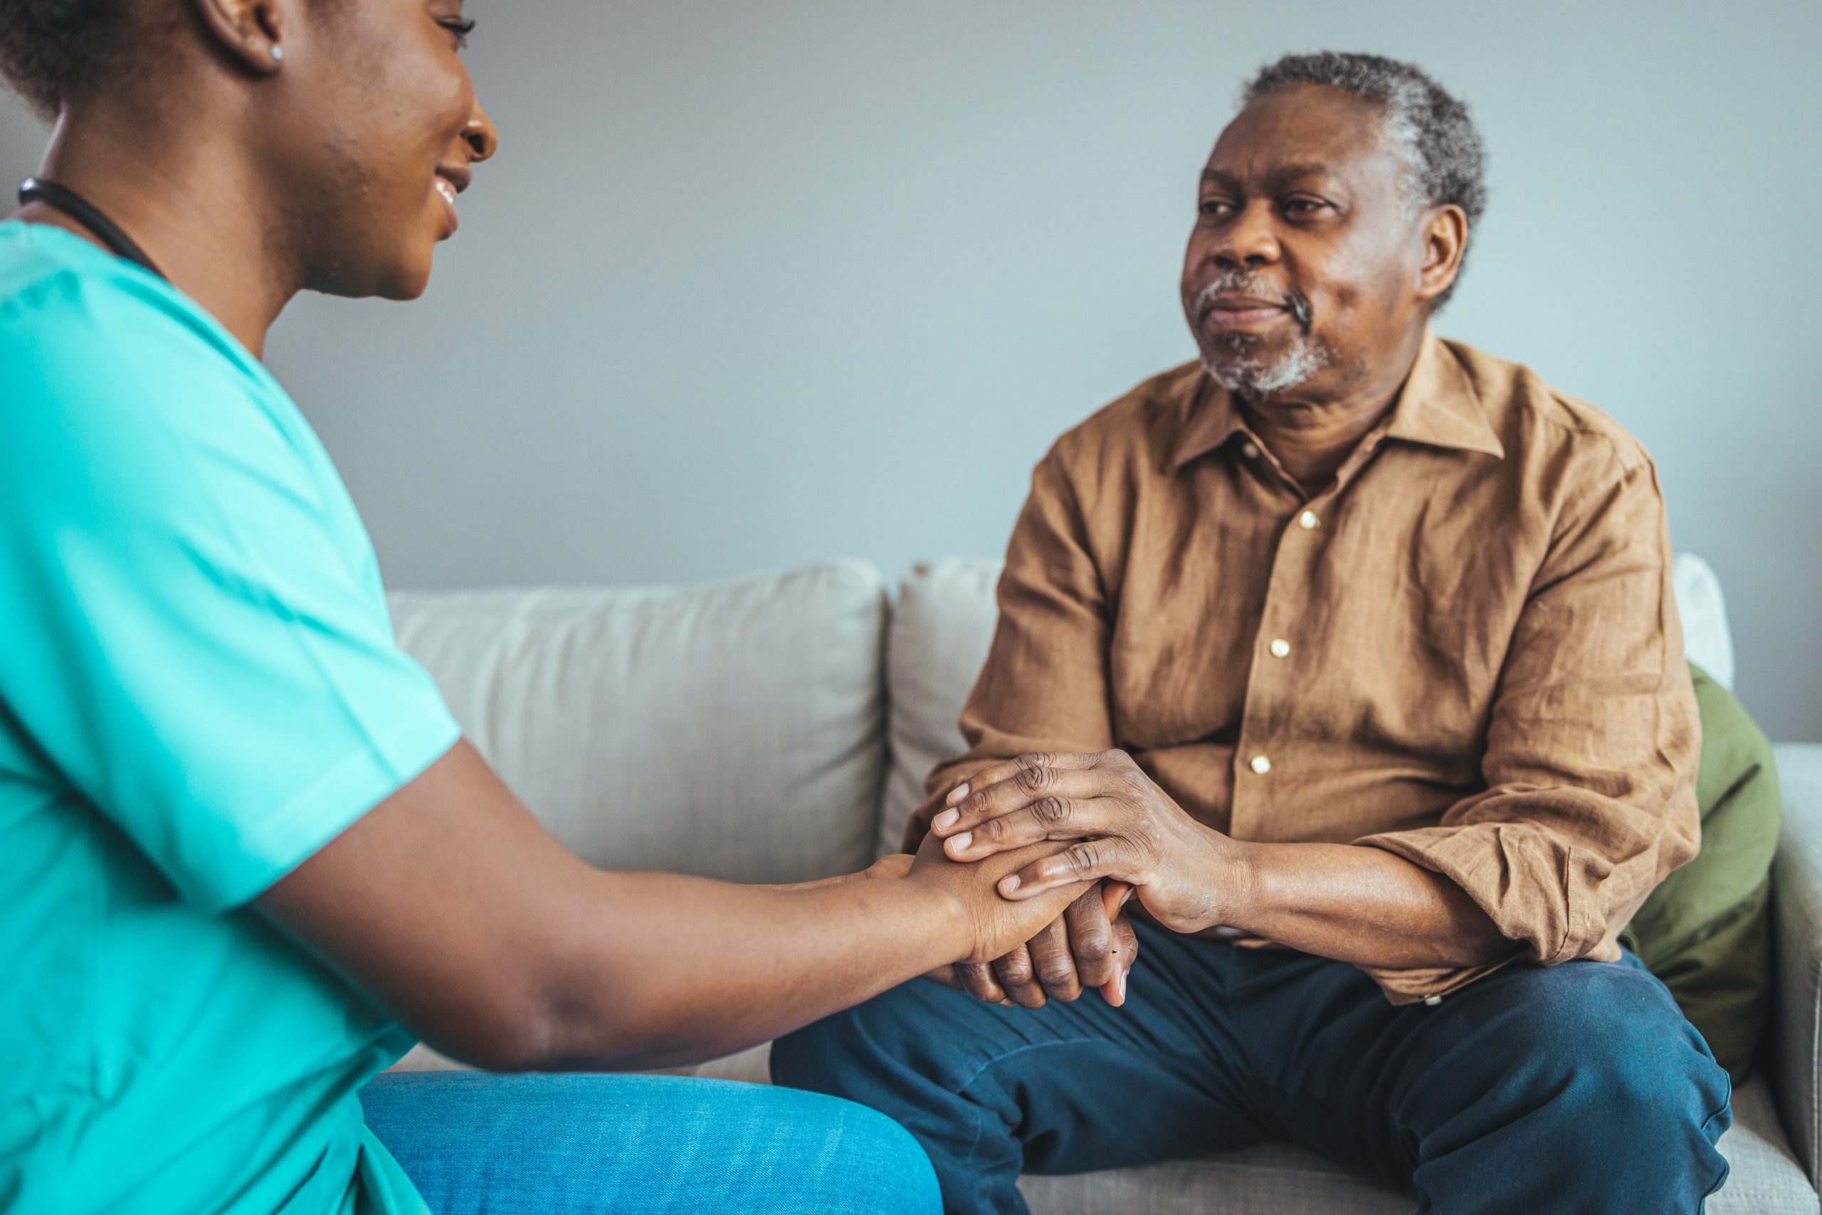
M 1483 204 L 1416 67 L 1266 67 L 1201 175 L 1201 362 L 1039 465 L 911 834 L 1075 840 L 1000 891 L 1144 913 L 1090 894 L 964 967 L 978 1000 L 911 984 L 773 1055 L 904 1122 L 951 1211 L 1266 1138 L 1450 1213 L 1696 1211 L 1725 1177 L 1727 1077 L 1616 942 L 1698 836 L 1656 470 L 1430 333 Z

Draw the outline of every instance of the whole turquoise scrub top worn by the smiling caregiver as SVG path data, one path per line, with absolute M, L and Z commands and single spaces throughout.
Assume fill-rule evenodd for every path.
M 0 222 L 0 1211 L 423 1211 L 412 1038 L 250 900 L 459 738 L 284 390 Z

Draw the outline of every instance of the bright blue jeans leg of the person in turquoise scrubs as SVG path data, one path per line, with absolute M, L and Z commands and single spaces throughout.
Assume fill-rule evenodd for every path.
M 685 1077 L 415 1071 L 361 1089 L 434 1215 L 926 1215 L 904 1128 L 816 1093 Z

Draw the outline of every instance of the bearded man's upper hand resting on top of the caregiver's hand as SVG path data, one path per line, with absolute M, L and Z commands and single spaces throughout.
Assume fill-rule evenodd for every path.
M 1117 878 L 1168 929 L 1224 924 L 1237 876 L 1233 842 L 1190 818 L 1124 750 L 1024 754 L 975 772 L 944 800 L 931 836 L 962 862 L 1037 842 L 1068 847 L 1000 878 L 1011 902 Z

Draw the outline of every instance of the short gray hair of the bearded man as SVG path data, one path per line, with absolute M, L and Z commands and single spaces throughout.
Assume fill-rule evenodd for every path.
M 1423 208 L 1452 202 L 1467 213 L 1472 235 L 1487 209 L 1487 148 L 1469 107 L 1448 89 L 1421 67 L 1396 58 L 1317 51 L 1286 55 L 1261 67 L 1241 91 L 1241 106 L 1292 84 L 1326 84 L 1385 106 L 1387 138 L 1405 155 L 1405 200 L 1412 217 Z M 1436 297 L 1434 308 L 1441 308 L 1454 291 L 1450 284 Z

